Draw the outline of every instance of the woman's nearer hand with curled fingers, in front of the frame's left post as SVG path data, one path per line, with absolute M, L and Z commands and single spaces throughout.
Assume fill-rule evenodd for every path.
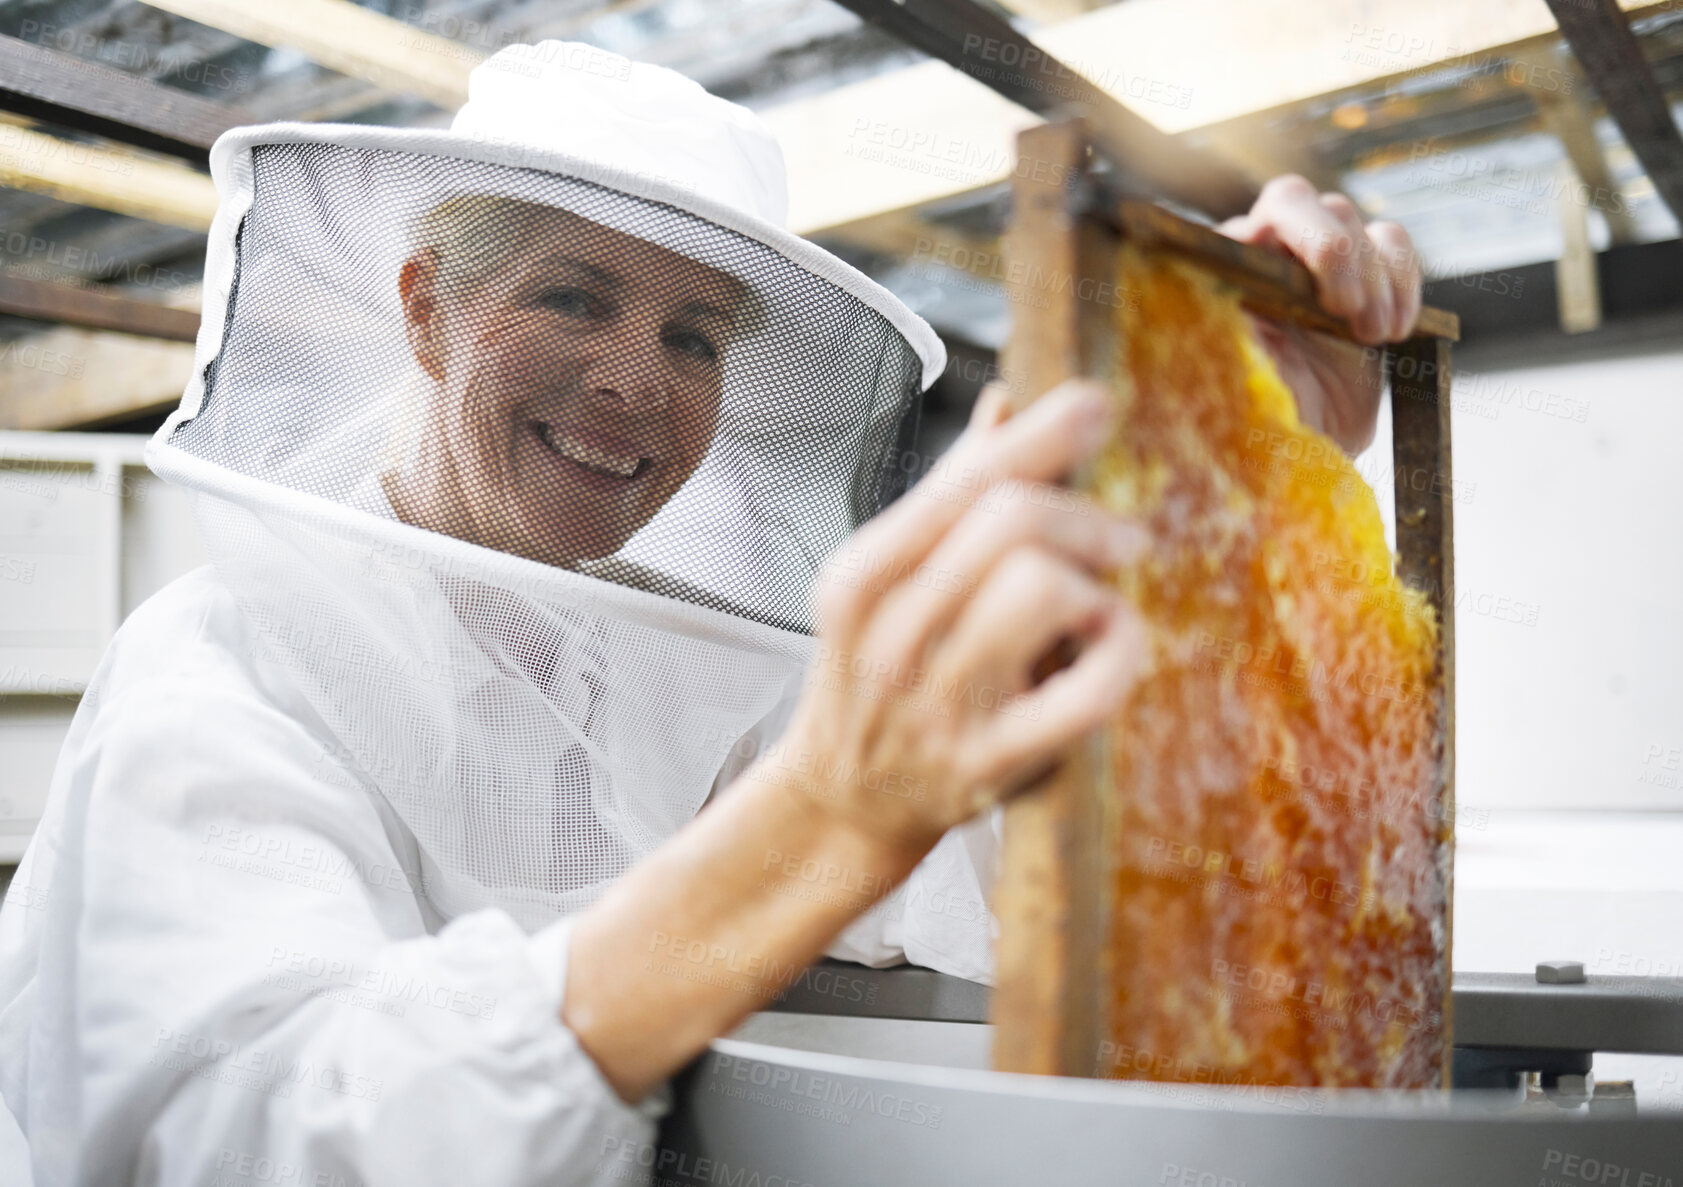
M 820 648 L 762 776 L 894 852 L 1052 769 L 1138 679 L 1144 633 L 1104 581 L 1146 534 L 1059 485 L 1107 438 L 1070 381 L 1006 419 L 983 392 L 936 468 L 826 562 Z M 1075 660 L 1038 679 L 1060 643 Z M 791 778 L 793 774 L 793 778 Z

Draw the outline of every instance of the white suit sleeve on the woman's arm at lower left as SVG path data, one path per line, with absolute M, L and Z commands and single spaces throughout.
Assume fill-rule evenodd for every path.
M 369 793 L 300 712 L 210 667 L 106 699 L 61 759 L 37 1187 L 646 1165 L 661 1099 L 621 1103 L 559 1017 L 569 924 L 481 911 L 427 934 L 414 854 Z

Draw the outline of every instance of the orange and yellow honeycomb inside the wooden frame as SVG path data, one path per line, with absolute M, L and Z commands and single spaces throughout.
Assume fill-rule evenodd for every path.
M 1437 625 L 1373 492 L 1298 421 L 1235 295 L 1124 248 L 1092 492 L 1148 525 L 1151 636 L 1107 732 L 1101 1074 L 1424 1088 L 1449 1044 Z

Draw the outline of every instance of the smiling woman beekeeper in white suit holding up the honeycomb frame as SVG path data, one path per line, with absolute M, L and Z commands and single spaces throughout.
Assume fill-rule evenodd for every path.
M 212 172 L 148 453 L 212 564 L 118 633 L 0 914 L 35 1182 L 618 1179 L 823 951 L 985 978 L 986 810 L 1141 655 L 1101 581 L 1138 529 L 1035 493 L 1102 394 L 988 394 L 875 515 L 934 333 L 783 229 L 747 111 L 582 45 L 498 52 L 449 131 Z M 1230 231 L 1395 337 L 1407 244 L 1340 202 Z M 1372 362 L 1274 347 L 1360 444 Z

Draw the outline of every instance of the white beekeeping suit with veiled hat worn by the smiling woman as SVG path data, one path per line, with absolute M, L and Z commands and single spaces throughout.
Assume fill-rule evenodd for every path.
M 123 626 L 0 914 L 35 1182 L 569 1184 L 653 1140 L 567 916 L 778 729 L 931 330 L 677 74 L 545 42 L 451 131 L 226 135 L 148 460 L 212 566 Z M 986 975 L 988 825 L 838 955 Z M 634 1163 L 633 1163 L 634 1165 Z

